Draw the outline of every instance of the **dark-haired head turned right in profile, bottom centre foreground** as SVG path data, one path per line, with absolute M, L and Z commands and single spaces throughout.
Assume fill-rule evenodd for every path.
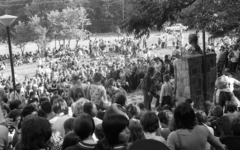
M 125 144 L 129 141 L 129 120 L 123 115 L 109 115 L 103 119 L 102 127 L 105 139 L 111 146 Z

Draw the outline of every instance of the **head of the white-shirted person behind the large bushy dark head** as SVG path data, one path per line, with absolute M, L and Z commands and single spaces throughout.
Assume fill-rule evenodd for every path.
M 55 99 L 53 101 L 52 108 L 55 114 L 60 114 L 60 113 L 68 114 L 68 106 L 64 99 L 61 99 L 61 98 Z

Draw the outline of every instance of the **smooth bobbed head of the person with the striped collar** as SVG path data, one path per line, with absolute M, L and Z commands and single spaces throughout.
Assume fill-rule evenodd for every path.
M 85 113 L 80 114 L 73 123 L 73 130 L 82 141 L 92 136 L 95 130 L 92 117 Z

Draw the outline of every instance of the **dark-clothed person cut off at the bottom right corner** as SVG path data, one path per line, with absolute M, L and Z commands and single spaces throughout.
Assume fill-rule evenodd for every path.
M 220 137 L 219 140 L 228 150 L 240 149 L 240 118 L 233 120 L 231 130 L 233 135 Z

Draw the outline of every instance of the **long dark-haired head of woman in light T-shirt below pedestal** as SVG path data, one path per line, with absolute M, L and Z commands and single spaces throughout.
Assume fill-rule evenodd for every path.
M 181 103 L 176 107 L 174 121 L 177 129 L 193 129 L 196 125 L 196 118 L 194 110 L 189 103 Z

